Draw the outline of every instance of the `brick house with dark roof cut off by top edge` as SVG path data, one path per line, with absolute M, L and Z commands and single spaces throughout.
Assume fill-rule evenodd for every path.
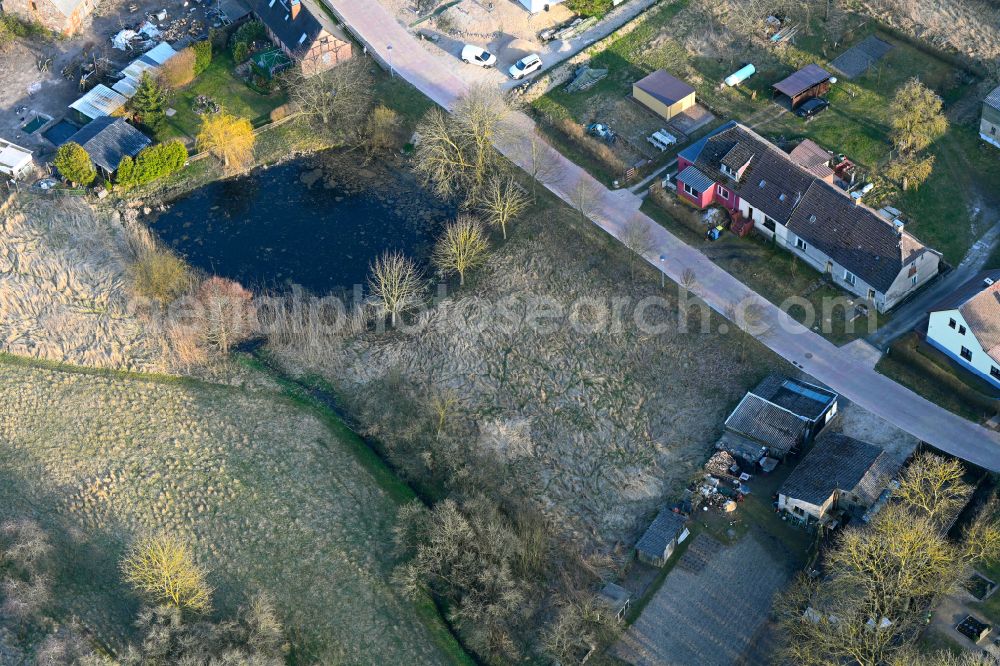
M 325 72 L 353 55 L 347 35 L 314 0 L 254 0 L 253 13 L 305 76 Z

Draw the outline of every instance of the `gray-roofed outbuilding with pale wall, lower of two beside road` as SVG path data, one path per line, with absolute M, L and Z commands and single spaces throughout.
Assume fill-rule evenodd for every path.
M 778 489 L 778 508 L 803 521 L 829 522 L 840 511 L 860 518 L 900 467 L 874 444 L 824 435 Z

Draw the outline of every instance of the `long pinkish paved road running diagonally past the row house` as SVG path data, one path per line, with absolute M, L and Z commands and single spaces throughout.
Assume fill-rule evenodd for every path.
M 376 0 L 324 1 L 368 45 L 369 52 L 383 62 L 388 62 L 387 47 L 392 45 L 396 74 L 439 105 L 451 108 L 468 89 L 460 78 L 460 64 L 426 50 Z M 511 124 L 514 131 L 510 136 L 519 138 L 499 141 L 497 148 L 514 163 L 529 168 L 531 137 L 537 137 L 534 124 L 524 114 L 515 114 Z M 537 145 L 538 139 L 534 140 Z M 631 220 L 646 225 L 656 250 L 645 259 L 671 280 L 680 283 L 686 271 L 693 271 L 697 280 L 693 291 L 723 315 L 733 304 L 757 303 L 762 313 L 761 328 L 767 331 L 756 337 L 775 353 L 918 439 L 974 464 L 1000 471 L 1000 434 L 966 421 L 878 374 L 871 368 L 867 355 L 856 353 L 853 346 L 837 348 L 804 328 L 697 249 L 639 212 L 640 197 L 628 190 L 608 190 L 551 147 L 544 149 L 546 159 L 559 165 L 556 170 L 559 176 L 544 182 L 545 187 L 570 205 L 585 192 L 588 217 L 615 238 L 621 239 Z M 661 261 L 660 257 L 665 259 Z

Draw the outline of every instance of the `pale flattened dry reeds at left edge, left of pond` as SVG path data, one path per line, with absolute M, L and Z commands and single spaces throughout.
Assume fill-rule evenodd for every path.
M 81 200 L 17 195 L 0 206 L 0 349 L 50 361 L 161 370 L 129 307 L 128 239 Z

